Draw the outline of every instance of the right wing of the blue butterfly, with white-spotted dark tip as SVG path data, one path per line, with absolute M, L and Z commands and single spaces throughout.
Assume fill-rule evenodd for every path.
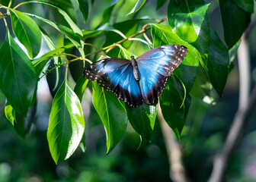
M 162 45 L 136 58 L 139 86 L 146 104 L 152 105 L 165 89 L 167 78 L 187 55 L 183 45 Z

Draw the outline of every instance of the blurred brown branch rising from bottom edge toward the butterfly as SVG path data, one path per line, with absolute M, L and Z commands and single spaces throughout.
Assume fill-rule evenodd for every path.
M 171 180 L 174 182 L 188 182 L 189 180 L 187 180 L 184 165 L 182 163 L 181 147 L 176 140 L 173 131 L 165 122 L 160 106 L 158 107 L 158 119 L 160 121 L 167 149 Z

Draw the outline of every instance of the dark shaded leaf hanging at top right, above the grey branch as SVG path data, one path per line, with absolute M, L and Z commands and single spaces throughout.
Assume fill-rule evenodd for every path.
M 229 49 L 235 45 L 250 23 L 251 14 L 238 7 L 233 0 L 219 0 L 224 39 Z

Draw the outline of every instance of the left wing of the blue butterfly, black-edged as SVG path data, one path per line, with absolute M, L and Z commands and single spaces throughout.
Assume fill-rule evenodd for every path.
M 110 90 L 128 105 L 136 107 L 142 104 L 139 85 L 133 77 L 131 61 L 123 58 L 106 58 L 89 65 L 84 76 L 104 89 Z

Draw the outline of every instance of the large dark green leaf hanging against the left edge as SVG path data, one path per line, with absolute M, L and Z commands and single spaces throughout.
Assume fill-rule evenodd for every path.
M 25 116 L 37 88 L 34 67 L 9 31 L 0 55 L 0 89 L 14 110 Z

